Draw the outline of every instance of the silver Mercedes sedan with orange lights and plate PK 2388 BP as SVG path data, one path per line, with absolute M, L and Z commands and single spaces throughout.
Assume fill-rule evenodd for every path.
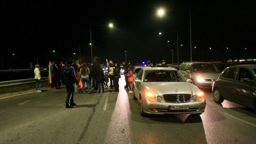
M 190 82 L 175 68 L 143 67 L 133 81 L 133 99 L 140 103 L 141 116 L 203 113 L 204 93 Z

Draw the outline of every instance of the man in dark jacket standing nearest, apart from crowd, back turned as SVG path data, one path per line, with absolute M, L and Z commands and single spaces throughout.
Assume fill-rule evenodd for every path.
M 74 89 L 76 85 L 78 86 L 78 80 L 75 75 L 75 70 L 71 66 L 72 61 L 68 60 L 67 64 L 63 67 L 63 71 L 61 73 L 61 79 L 64 85 L 66 85 L 68 96 L 66 99 L 66 108 L 73 108 L 76 104 L 74 103 Z

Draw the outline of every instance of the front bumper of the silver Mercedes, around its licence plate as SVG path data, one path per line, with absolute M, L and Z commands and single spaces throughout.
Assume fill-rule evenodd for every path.
M 184 105 L 189 105 L 189 104 L 184 104 Z M 150 114 L 185 114 L 185 113 L 196 114 L 196 113 L 203 113 L 205 106 L 206 106 L 206 103 L 192 104 L 192 105 L 189 105 L 189 109 L 187 110 L 169 110 L 169 105 L 152 105 L 152 104 L 143 103 L 143 110 L 145 113 L 150 113 Z

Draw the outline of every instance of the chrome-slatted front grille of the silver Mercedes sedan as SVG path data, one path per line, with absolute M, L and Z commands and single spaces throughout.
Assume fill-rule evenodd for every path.
M 167 103 L 186 103 L 190 102 L 191 94 L 164 94 Z

